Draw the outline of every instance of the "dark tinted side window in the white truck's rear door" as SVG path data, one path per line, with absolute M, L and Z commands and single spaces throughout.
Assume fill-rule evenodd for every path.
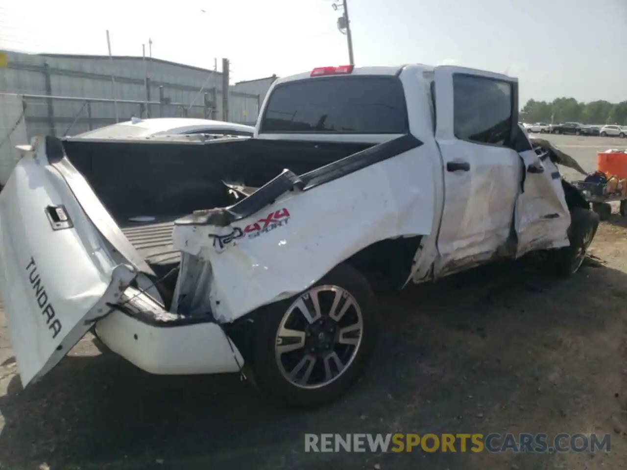
M 453 75 L 455 137 L 478 144 L 510 144 L 512 93 L 512 84 L 507 81 Z

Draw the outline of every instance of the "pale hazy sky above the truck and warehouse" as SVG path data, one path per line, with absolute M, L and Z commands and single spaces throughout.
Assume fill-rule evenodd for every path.
M 424 63 L 519 78 L 529 98 L 627 100 L 627 0 L 348 0 L 356 66 Z M 341 2 L 341 0 L 340 0 Z M 0 0 L 0 48 L 152 55 L 231 82 L 349 63 L 333 0 Z M 147 47 L 147 46 L 146 46 Z

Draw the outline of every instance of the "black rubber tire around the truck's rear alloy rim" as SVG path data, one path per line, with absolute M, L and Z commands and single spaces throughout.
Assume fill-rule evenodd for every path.
M 337 286 L 352 296 L 361 310 L 361 342 L 356 346 L 356 352 L 351 362 L 339 375 L 317 388 L 305 388 L 290 382 L 282 372 L 282 368 L 284 371 L 286 368 L 283 364 L 279 365 L 280 359 L 277 358 L 278 332 L 290 306 L 302 295 L 312 292 L 319 286 Z M 327 318 L 329 318 L 328 315 Z M 379 309 L 372 288 L 357 269 L 344 263 L 335 266 L 332 271 L 307 291 L 290 299 L 260 308 L 256 313 L 255 321 L 257 328 L 251 365 L 254 374 L 253 381 L 258 389 L 263 390 L 271 397 L 289 407 L 300 409 L 311 409 L 328 404 L 347 392 L 366 369 L 379 334 Z M 336 330 L 339 333 L 339 323 Z M 317 333 L 314 333 L 314 337 L 317 337 Z M 337 343 L 334 342 L 333 344 L 335 346 Z M 300 349 L 294 352 L 298 355 Z M 320 358 L 315 360 L 314 370 L 322 365 L 320 360 Z

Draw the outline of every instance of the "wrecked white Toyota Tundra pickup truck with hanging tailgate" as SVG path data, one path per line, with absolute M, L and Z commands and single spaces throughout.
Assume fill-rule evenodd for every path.
M 373 352 L 371 274 L 402 288 L 534 251 L 567 276 L 598 226 L 508 76 L 317 68 L 275 81 L 255 132 L 24 147 L 0 193 L 24 385 L 92 331 L 150 373 L 244 370 L 324 404 Z

